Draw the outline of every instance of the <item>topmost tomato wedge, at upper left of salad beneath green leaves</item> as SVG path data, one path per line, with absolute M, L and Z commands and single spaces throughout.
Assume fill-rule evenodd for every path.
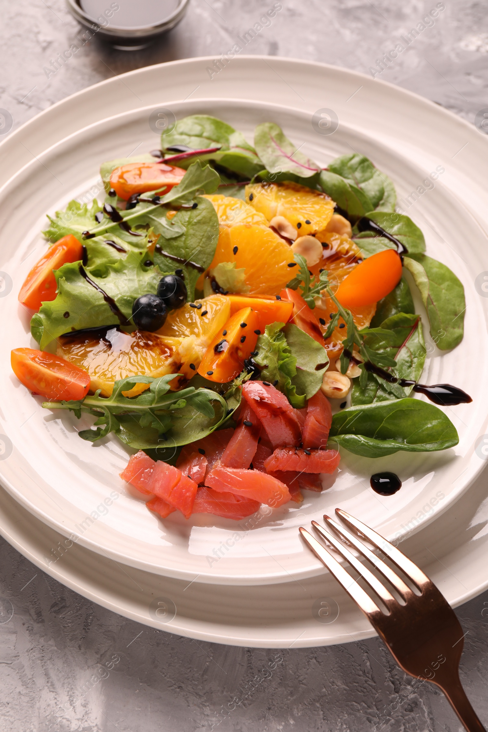
M 116 168 L 110 175 L 110 186 L 119 198 L 128 201 L 135 193 L 146 193 L 166 186 L 162 193 L 168 193 L 173 186 L 181 182 L 183 168 L 165 163 L 127 163 Z

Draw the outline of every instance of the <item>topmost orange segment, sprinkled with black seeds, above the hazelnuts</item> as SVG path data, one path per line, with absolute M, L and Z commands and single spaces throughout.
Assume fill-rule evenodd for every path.
M 326 193 L 299 183 L 254 183 L 246 186 L 246 201 L 266 220 L 283 216 L 299 236 L 322 231 L 332 218 L 335 203 Z

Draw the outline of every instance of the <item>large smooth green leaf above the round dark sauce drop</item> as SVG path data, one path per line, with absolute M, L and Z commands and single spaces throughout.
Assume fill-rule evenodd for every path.
M 408 397 L 334 414 L 329 439 L 365 458 L 383 458 L 398 450 L 445 450 L 459 442 L 456 427 L 443 411 Z

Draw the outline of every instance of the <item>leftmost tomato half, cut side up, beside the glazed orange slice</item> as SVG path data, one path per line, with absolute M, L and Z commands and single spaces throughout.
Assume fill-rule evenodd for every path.
M 89 373 L 59 356 L 34 348 L 15 348 L 10 362 L 15 376 L 27 389 L 50 401 L 83 399 L 88 394 Z

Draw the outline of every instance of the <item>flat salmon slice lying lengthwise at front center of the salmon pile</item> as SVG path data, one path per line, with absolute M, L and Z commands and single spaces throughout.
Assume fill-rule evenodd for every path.
M 272 456 L 271 456 L 272 457 Z M 287 486 L 272 475 L 258 470 L 243 470 L 215 466 L 206 477 L 205 484 L 220 492 L 234 493 L 235 496 L 252 498 L 271 508 L 277 508 L 290 501 Z

